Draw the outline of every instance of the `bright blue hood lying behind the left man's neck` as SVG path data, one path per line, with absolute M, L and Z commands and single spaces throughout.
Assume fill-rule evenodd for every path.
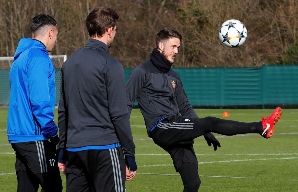
M 17 50 L 15 50 L 14 59 L 18 58 L 25 50 L 30 48 L 37 48 L 45 52 L 45 54 L 49 55 L 48 50 L 46 50 L 45 46 L 35 39 L 30 38 L 22 38 L 18 44 Z

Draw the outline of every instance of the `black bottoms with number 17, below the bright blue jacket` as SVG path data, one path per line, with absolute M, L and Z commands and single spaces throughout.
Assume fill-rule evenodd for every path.
M 62 191 L 62 180 L 49 141 L 12 143 L 15 150 L 15 170 L 18 192 Z

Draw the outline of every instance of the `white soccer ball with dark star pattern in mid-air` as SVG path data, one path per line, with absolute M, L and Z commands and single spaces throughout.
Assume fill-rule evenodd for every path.
M 225 21 L 219 30 L 220 41 L 228 47 L 242 45 L 247 37 L 247 29 L 244 24 L 236 19 Z

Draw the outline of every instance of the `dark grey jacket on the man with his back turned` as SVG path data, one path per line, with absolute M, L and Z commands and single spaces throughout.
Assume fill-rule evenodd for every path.
M 122 64 L 108 46 L 89 39 L 62 66 L 58 107 L 60 148 L 121 144 L 134 156 Z

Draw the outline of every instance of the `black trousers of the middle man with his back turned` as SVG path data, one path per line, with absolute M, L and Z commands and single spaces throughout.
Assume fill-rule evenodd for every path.
M 105 150 L 67 152 L 68 192 L 124 192 L 125 162 L 121 147 Z

